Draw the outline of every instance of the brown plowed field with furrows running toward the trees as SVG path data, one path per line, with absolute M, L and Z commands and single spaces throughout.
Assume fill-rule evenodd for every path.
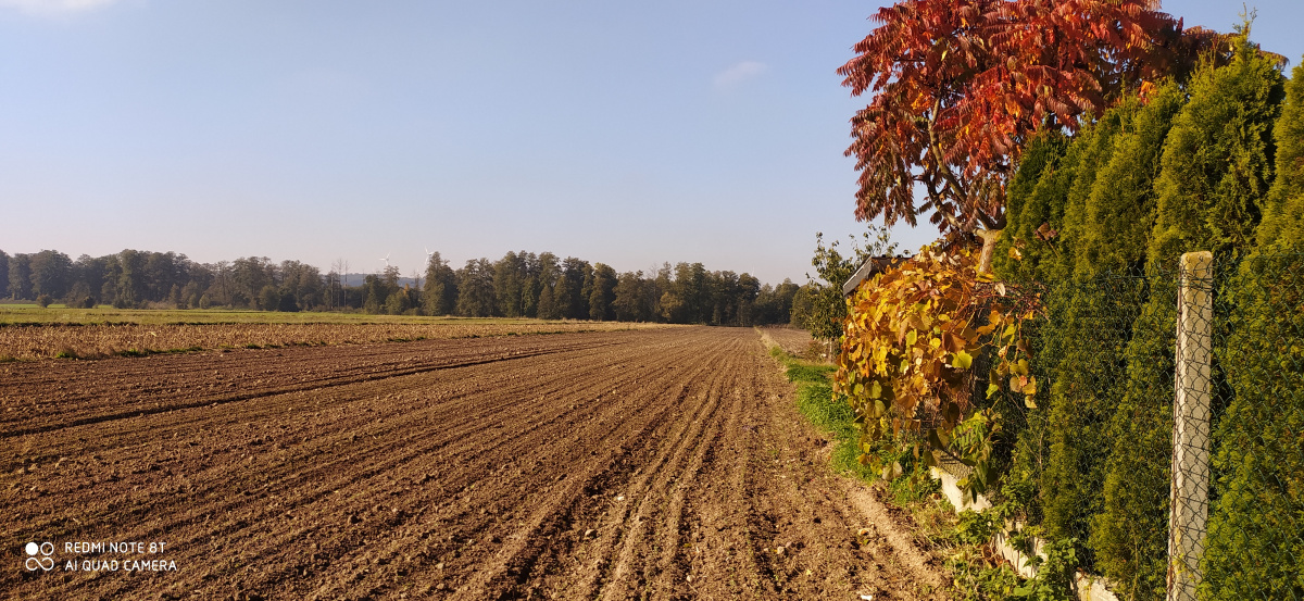
M 940 598 L 790 396 L 707 327 L 3 364 L 0 596 Z

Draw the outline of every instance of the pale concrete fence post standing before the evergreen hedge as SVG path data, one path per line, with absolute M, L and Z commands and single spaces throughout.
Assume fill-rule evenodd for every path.
M 1209 518 L 1213 253 L 1181 256 L 1168 512 L 1168 601 L 1194 600 Z

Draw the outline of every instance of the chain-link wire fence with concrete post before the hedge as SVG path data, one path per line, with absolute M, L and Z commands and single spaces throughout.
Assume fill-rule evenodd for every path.
M 1304 256 L 1046 292 L 1007 478 L 1119 598 L 1304 601 Z

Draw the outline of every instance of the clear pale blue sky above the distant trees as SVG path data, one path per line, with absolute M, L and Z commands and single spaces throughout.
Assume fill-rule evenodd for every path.
M 835 69 L 876 7 L 0 0 L 0 249 L 805 282 L 816 231 L 865 228 Z M 1304 3 L 1256 7 L 1297 64 Z M 1163 9 L 1226 31 L 1241 4 Z

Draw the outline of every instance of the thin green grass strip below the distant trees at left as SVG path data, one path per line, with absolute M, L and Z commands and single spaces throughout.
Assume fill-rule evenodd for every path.
M 17 325 L 194 325 L 194 323 L 402 323 L 402 325 L 512 325 L 546 323 L 541 319 L 473 318 L 473 317 L 420 317 L 369 315 L 365 313 L 278 313 L 240 309 L 115 309 L 100 305 L 94 309 L 69 309 L 35 304 L 0 304 L 0 326 Z

